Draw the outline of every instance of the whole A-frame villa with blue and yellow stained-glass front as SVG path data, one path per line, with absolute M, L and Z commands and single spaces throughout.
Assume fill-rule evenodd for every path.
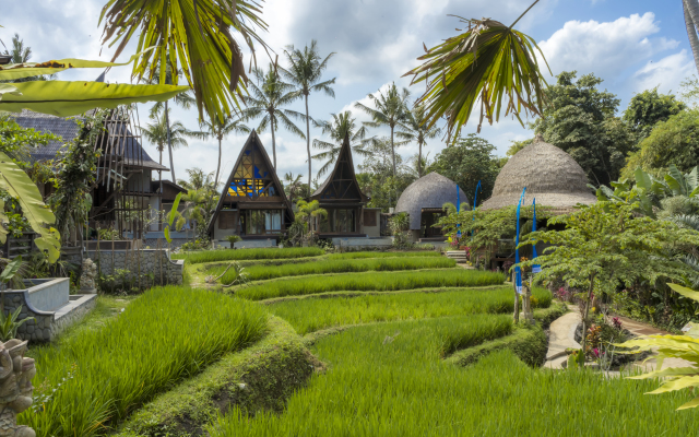
M 276 244 L 293 221 L 292 203 L 260 137 L 252 130 L 222 190 L 209 222 L 209 235 L 214 240 L 238 235 L 244 240 L 270 239 Z

